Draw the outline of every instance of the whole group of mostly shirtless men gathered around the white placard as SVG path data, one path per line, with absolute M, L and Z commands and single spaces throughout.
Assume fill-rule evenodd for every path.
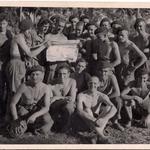
M 52 126 L 67 132 L 76 114 L 95 132 L 95 143 L 108 141 L 104 129 L 111 121 L 124 131 L 135 119 L 149 127 L 150 35 L 137 18 L 135 34 L 119 21 L 103 18 L 97 26 L 88 16 L 41 18 L 8 29 L 0 16 L 0 97 L 6 123 L 24 119 L 34 133 L 46 135 Z M 80 40 L 76 62 L 47 62 L 52 41 Z M 123 109 L 124 108 L 124 109 Z M 136 115 L 135 115 L 136 114 Z

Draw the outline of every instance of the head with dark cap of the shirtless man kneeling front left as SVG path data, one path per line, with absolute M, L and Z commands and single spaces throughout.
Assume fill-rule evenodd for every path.
M 43 81 L 44 78 L 44 68 L 40 65 L 33 66 L 27 71 L 30 76 L 30 81 L 33 84 L 37 84 Z

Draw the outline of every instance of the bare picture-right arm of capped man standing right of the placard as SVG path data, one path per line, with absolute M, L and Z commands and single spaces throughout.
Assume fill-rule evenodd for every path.
M 117 66 L 117 65 L 119 65 L 121 63 L 119 47 L 118 47 L 116 42 L 112 43 L 112 50 L 113 50 L 113 53 L 114 53 L 114 56 L 115 56 L 115 60 L 113 62 L 111 62 L 111 65 L 113 67 L 115 67 L 115 66 Z

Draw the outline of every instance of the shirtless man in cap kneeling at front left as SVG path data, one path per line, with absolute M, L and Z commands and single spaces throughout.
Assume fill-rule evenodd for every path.
M 33 66 L 28 73 L 29 80 L 20 85 L 10 103 L 12 119 L 22 118 L 34 126 L 39 121 L 41 127 L 35 129 L 35 133 L 48 134 L 52 126 L 48 113 L 51 95 L 48 86 L 42 82 L 44 69 Z

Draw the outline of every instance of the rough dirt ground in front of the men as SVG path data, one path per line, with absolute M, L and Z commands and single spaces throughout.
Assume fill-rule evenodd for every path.
M 111 144 L 150 144 L 150 129 L 130 127 L 121 132 L 111 126 L 106 128 Z M 5 130 L 0 130 L 0 144 L 90 144 L 93 134 L 90 132 L 53 133 L 48 137 L 26 133 L 21 138 L 10 138 Z

